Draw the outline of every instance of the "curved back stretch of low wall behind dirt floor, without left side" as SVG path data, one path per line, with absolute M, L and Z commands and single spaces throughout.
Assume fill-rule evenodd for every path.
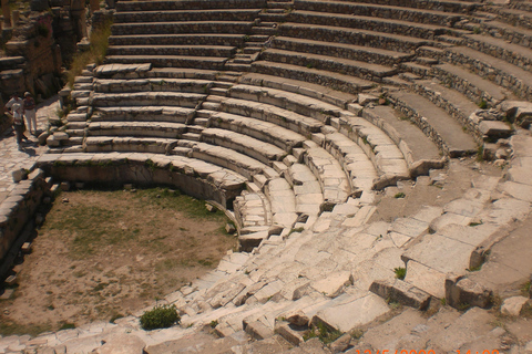
M 173 185 L 193 197 L 226 207 L 246 188 L 246 178 L 204 160 L 160 154 L 47 154 L 35 164 L 58 180 Z

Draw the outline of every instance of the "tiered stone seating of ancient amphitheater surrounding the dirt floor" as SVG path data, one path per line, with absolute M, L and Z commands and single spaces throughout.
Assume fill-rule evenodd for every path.
M 532 353 L 531 70 L 528 1 L 117 2 L 4 238 L 53 183 L 164 184 L 227 208 L 242 251 L 164 300 L 178 326 L 0 353 Z M 348 335 L 304 342 L 318 323 Z

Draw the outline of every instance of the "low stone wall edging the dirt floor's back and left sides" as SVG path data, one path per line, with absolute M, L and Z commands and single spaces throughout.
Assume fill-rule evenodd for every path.
M 125 155 L 130 158 L 125 158 Z M 85 158 L 83 158 L 84 156 Z M 155 159 L 155 158 L 154 158 Z M 224 176 L 221 170 L 202 169 L 192 162 L 176 166 L 161 156 L 155 162 L 150 155 L 43 155 L 31 168 L 28 178 L 0 204 L 0 278 L 9 269 L 20 247 L 23 230 L 32 225 L 35 210 L 43 197 L 50 196 L 54 181 L 101 183 L 105 185 L 136 184 L 165 185 L 180 188 L 195 198 L 213 200 L 226 208 L 246 188 L 244 180 Z M 22 175 L 28 171 L 21 170 Z

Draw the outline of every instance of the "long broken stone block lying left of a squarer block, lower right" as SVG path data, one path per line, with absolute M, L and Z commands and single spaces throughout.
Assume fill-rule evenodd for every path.
M 387 301 L 399 302 L 418 310 L 427 309 L 430 302 L 430 294 L 399 279 L 376 280 L 369 291 Z

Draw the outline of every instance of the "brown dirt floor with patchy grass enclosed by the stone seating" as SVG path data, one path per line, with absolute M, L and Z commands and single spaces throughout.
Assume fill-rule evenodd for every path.
M 58 330 L 144 309 L 218 263 L 236 238 L 222 211 L 178 192 L 62 192 L 18 285 L 0 300 L 0 334 Z

